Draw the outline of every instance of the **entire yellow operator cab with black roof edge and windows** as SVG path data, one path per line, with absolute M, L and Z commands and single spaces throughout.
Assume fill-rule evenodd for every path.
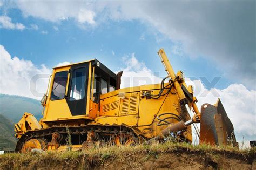
M 97 59 L 54 67 L 43 101 L 43 122 L 93 120 L 99 111 L 99 98 L 120 88 L 120 75 Z

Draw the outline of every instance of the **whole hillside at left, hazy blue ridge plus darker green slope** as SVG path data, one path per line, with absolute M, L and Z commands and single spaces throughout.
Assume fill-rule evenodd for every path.
M 39 100 L 0 94 L 0 150 L 14 150 L 16 138 L 14 137 L 14 124 L 17 123 L 24 112 L 42 118 L 42 105 Z

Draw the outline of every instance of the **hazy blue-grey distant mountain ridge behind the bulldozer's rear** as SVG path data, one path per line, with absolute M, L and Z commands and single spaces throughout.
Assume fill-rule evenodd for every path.
M 17 123 L 24 112 L 32 113 L 37 119 L 42 118 L 42 105 L 39 100 L 0 94 L 0 114 Z

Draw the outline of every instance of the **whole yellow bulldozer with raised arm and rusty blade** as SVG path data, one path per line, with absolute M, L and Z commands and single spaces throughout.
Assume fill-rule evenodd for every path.
M 221 101 L 199 111 L 183 72 L 174 73 L 164 49 L 158 55 L 167 72 L 161 83 L 124 89 L 123 72 L 116 74 L 97 59 L 54 67 L 41 100 L 43 118 L 22 115 L 14 127 L 15 151 L 76 151 L 95 142 L 127 146 L 170 135 L 191 143 L 191 126 L 197 123 L 200 144 L 234 143 L 233 125 Z

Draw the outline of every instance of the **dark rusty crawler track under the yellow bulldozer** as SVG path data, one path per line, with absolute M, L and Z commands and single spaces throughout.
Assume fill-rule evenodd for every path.
M 68 132 L 69 131 L 69 132 Z M 98 140 L 109 140 L 113 135 L 125 133 L 132 135 L 135 139 L 139 139 L 139 133 L 134 128 L 125 125 L 81 125 L 81 126 L 52 126 L 42 130 L 28 131 L 22 135 L 17 141 L 15 152 L 19 152 L 22 146 L 29 139 L 42 139 L 47 144 L 51 141 L 52 133 L 57 132 L 60 134 L 60 145 L 65 145 L 66 137 L 71 135 L 72 144 L 82 144 L 87 139 L 87 132 L 96 132 L 99 134 Z

